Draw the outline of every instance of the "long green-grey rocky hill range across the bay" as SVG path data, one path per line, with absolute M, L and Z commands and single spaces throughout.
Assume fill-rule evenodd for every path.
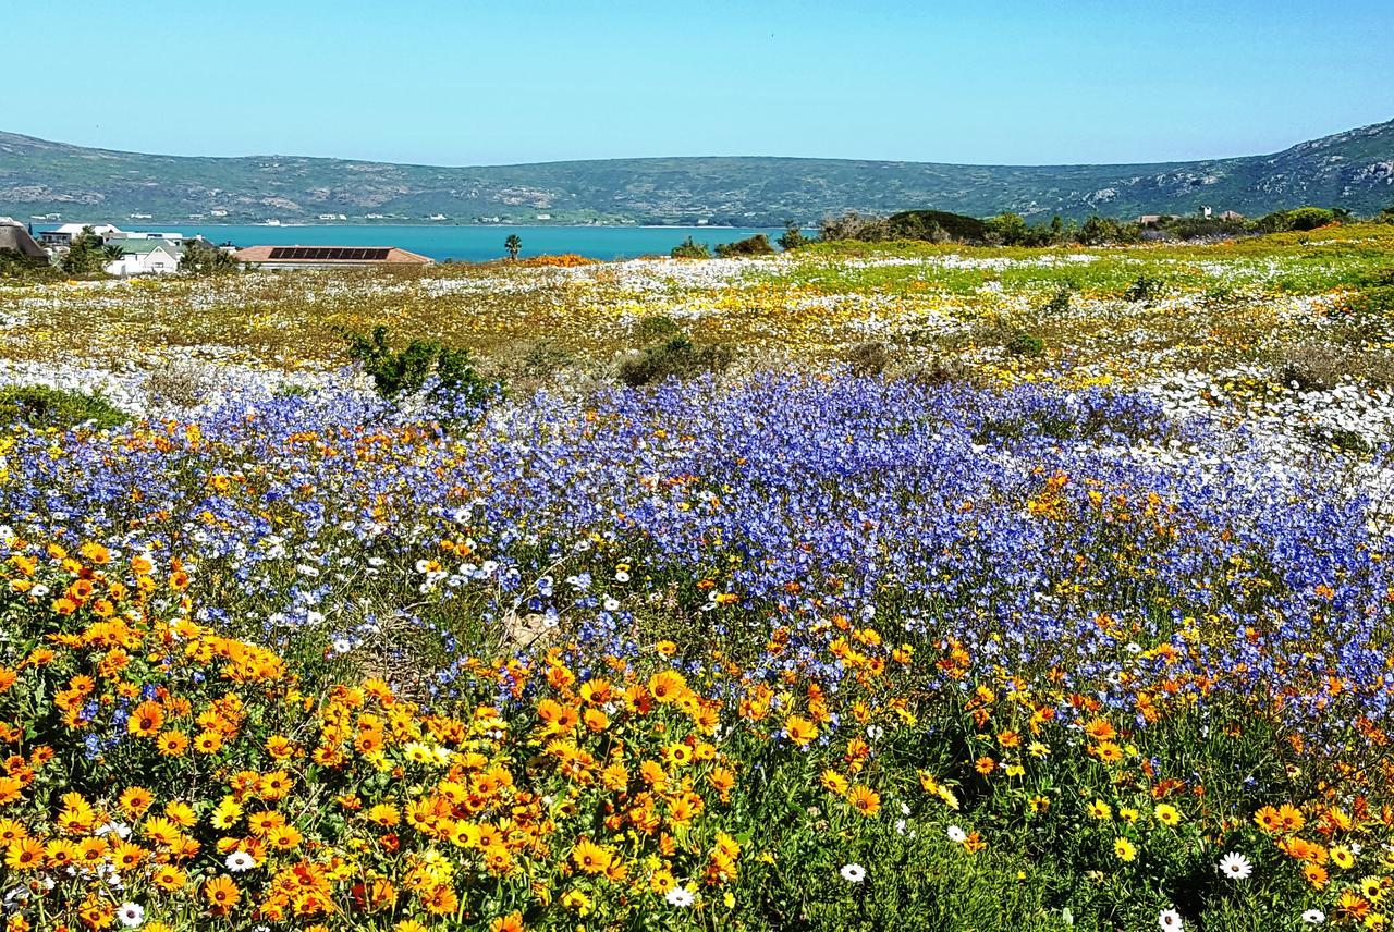
M 934 208 L 1030 220 L 1260 215 L 1305 203 L 1394 205 L 1394 121 L 1276 155 L 1122 166 L 963 166 L 677 157 L 447 169 L 110 152 L 0 132 L 0 215 L 21 220 L 256 223 L 813 223 L 856 209 Z

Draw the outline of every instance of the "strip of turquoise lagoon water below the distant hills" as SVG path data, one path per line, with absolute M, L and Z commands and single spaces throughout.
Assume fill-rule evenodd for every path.
M 774 242 L 782 228 L 768 227 L 563 227 L 563 226 L 198 226 L 171 223 L 162 226 L 125 226 L 123 230 L 162 230 L 202 235 L 212 242 L 238 247 L 397 247 L 431 256 L 438 262 L 485 262 L 502 259 L 503 241 L 516 234 L 523 241 L 521 258 L 576 252 L 591 259 L 633 259 L 643 255 L 668 255 L 669 249 L 693 237 L 715 245 L 744 240 L 757 233 Z

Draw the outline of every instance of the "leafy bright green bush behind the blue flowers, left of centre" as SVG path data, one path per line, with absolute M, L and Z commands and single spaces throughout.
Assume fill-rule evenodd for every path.
M 378 394 L 388 400 L 421 391 L 431 376 L 435 376 L 432 394 L 454 396 L 467 404 L 482 404 L 499 391 L 498 385 L 474 371 L 468 350 L 417 339 L 393 351 L 388 327 L 382 325 L 374 327 L 371 336 L 350 334 L 348 355 L 362 365 Z

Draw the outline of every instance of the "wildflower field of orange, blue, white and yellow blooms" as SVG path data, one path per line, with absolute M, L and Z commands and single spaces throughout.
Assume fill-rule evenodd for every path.
M 0 283 L 4 919 L 1384 928 L 1391 315 L 1377 226 Z

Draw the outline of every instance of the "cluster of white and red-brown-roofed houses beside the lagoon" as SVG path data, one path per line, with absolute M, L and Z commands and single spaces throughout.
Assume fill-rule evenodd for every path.
M 178 231 L 127 231 L 112 223 L 64 223 L 53 230 L 35 231 L 14 217 L 0 217 L 0 251 L 18 254 L 33 262 L 59 262 L 79 237 L 96 238 L 103 252 L 102 270 L 116 277 L 170 274 L 190 248 L 219 249 L 234 261 L 262 269 L 335 269 L 376 265 L 432 265 L 434 259 L 379 247 L 335 245 L 215 245 L 199 235 Z

